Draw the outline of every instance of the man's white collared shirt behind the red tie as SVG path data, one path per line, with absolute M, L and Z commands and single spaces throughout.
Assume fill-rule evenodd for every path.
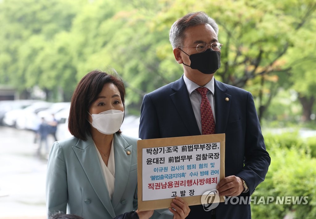
M 188 94 L 190 97 L 191 105 L 193 108 L 195 119 L 197 120 L 197 126 L 200 129 L 200 132 L 202 133 L 202 122 L 201 122 L 201 100 L 202 96 L 195 90 L 196 88 L 199 88 L 200 86 L 196 83 L 192 82 L 189 78 L 187 78 L 185 75 L 183 75 L 183 80 L 185 82 L 185 86 L 188 90 Z M 216 123 L 215 118 L 215 98 L 214 98 L 214 77 L 204 85 L 204 88 L 208 88 L 209 91 L 207 92 L 206 96 L 207 99 L 210 101 L 214 121 Z

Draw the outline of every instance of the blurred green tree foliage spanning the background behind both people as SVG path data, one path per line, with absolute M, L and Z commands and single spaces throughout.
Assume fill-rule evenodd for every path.
M 171 25 L 203 10 L 224 44 L 216 79 L 251 91 L 259 117 L 279 88 L 294 88 L 307 118 L 316 87 L 315 9 L 313 0 L 3 0 L 0 83 L 38 85 L 52 99 L 62 91 L 69 100 L 83 75 L 111 66 L 138 114 L 144 94 L 183 74 L 168 40 Z

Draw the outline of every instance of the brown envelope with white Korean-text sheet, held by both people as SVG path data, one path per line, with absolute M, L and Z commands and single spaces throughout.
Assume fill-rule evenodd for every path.
M 225 134 L 137 141 L 138 210 L 168 208 L 176 196 L 201 204 L 224 177 Z

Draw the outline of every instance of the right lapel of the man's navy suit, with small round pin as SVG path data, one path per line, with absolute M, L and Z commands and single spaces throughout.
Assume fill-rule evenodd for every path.
M 225 133 L 230 103 L 231 103 L 231 95 L 225 93 L 227 87 L 225 84 L 218 82 L 214 79 L 214 96 L 215 96 L 215 118 L 216 118 L 216 125 L 215 125 L 215 133 Z M 228 98 L 228 99 L 226 99 Z

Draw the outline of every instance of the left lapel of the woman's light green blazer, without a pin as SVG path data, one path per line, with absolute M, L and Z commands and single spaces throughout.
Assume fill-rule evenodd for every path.
M 106 187 L 106 182 L 102 174 L 100 162 L 92 137 L 88 135 L 87 141 L 79 140 L 77 145 L 73 146 L 72 148 L 75 151 L 78 160 L 84 172 L 86 173 L 95 193 L 100 198 L 100 201 L 106 210 L 114 218 L 115 212 L 111 204 L 110 195 Z

